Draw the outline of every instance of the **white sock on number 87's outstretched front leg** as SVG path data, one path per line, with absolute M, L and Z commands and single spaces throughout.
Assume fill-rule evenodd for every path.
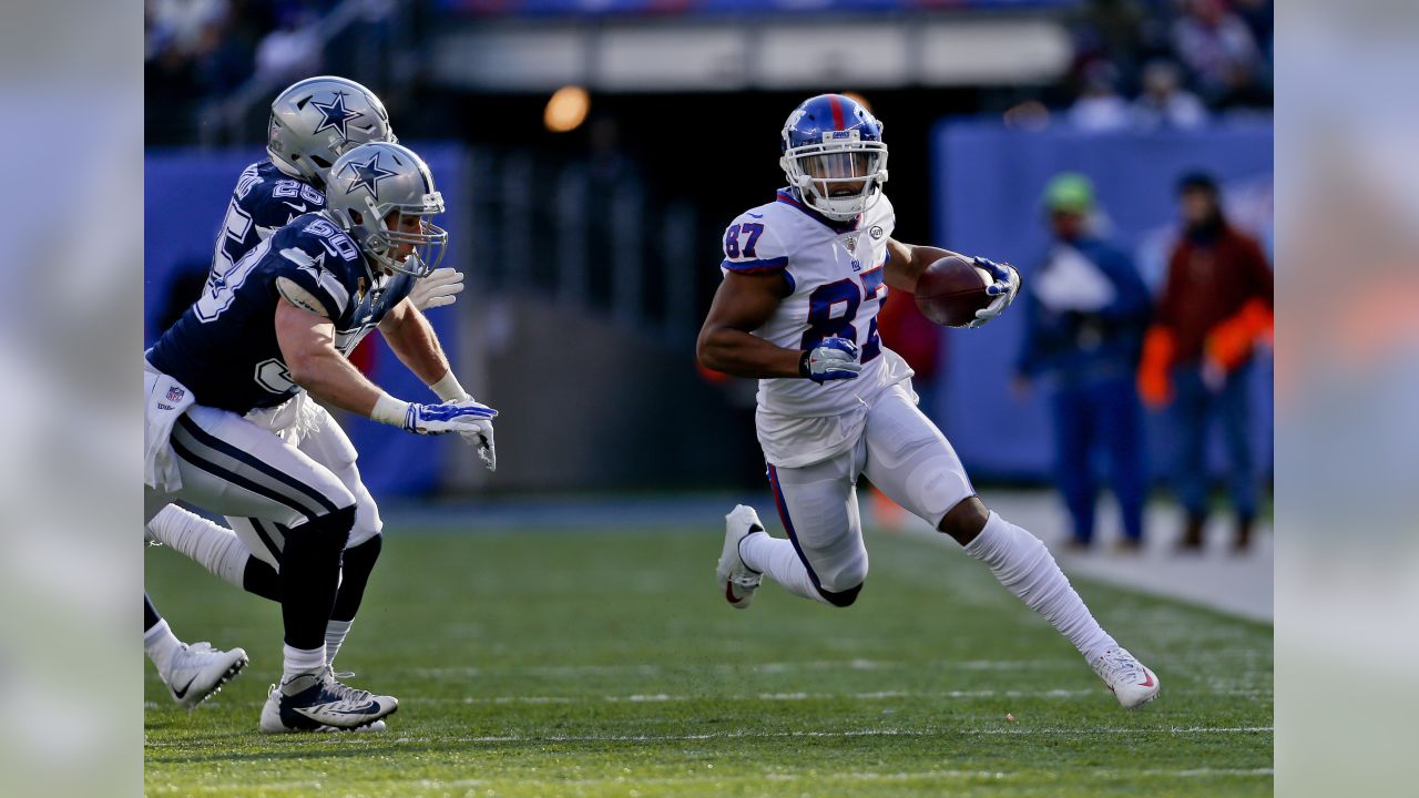
M 995 578 L 1053 623 L 1086 662 L 1093 665 L 1118 645 L 1090 615 L 1040 538 L 990 513 L 966 554 L 989 565 Z

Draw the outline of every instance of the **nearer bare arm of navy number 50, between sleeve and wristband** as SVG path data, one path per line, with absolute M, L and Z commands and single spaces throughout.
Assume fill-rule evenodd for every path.
M 315 399 L 369 416 L 383 395 L 335 348 L 335 324 L 316 312 L 281 300 L 275 308 L 275 338 L 291 382 Z

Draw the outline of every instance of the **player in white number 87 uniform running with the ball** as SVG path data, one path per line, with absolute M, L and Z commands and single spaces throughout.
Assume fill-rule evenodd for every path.
M 976 497 L 951 443 L 917 409 L 911 369 L 877 335 L 888 287 L 912 291 L 927 266 L 955 254 L 893 239 L 881 124 L 850 98 L 819 95 L 789 115 L 782 152 L 789 186 L 725 230 L 724 281 L 698 355 L 759 378 L 758 436 L 788 540 L 735 507 L 721 594 L 746 608 L 768 574 L 802 598 L 851 605 L 867 578 L 856 493 L 867 474 L 1053 623 L 1122 706 L 1152 700 L 1158 677 L 1100 628 L 1039 538 Z M 996 277 L 979 327 L 1010 304 L 1019 274 L 973 261 Z

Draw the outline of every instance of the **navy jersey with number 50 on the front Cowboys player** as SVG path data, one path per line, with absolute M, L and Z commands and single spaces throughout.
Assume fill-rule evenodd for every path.
M 237 413 L 271 408 L 299 390 L 275 338 L 278 302 L 329 318 L 336 348 L 349 354 L 413 287 L 407 274 L 372 273 L 348 233 L 325 214 L 309 213 L 209 280 L 148 359 L 200 405 Z

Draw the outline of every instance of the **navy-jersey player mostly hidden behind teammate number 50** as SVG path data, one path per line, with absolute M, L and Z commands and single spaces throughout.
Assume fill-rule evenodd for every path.
M 231 270 L 251 248 L 297 216 L 325 207 L 329 168 L 345 152 L 366 142 L 396 142 L 380 99 L 360 84 L 339 77 L 299 81 L 271 104 L 267 159 L 247 166 L 237 180 L 217 234 L 211 277 Z M 410 301 L 420 311 L 455 301 L 463 275 L 440 268 L 417 280 Z M 358 513 L 360 528 L 345 555 L 342 599 L 326 628 L 326 662 L 350 629 L 359 596 L 379 555 L 379 518 Z M 230 518 L 240 532 L 169 504 L 149 521 L 150 537 L 192 557 L 213 574 L 255 595 L 280 601 L 278 540 L 263 537 L 250 520 Z M 257 544 L 270 544 L 257 545 Z M 255 548 L 257 555 L 251 554 Z M 173 700 L 194 707 L 247 665 L 241 649 L 186 645 L 143 596 L 143 646 Z M 366 728 L 382 728 L 375 724 Z

